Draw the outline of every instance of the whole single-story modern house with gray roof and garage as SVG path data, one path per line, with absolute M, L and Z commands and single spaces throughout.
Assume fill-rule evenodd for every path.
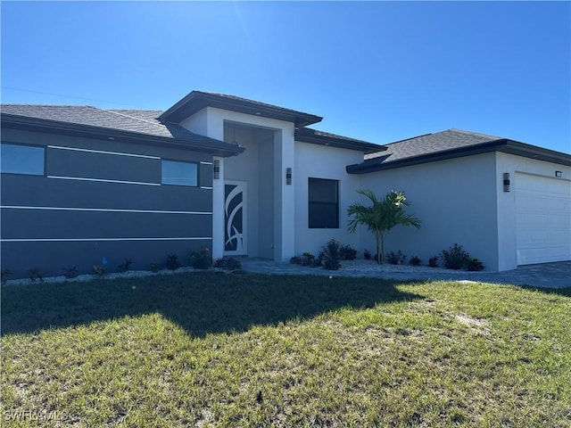
M 404 191 L 420 229 L 385 249 L 428 259 L 459 243 L 487 268 L 571 259 L 571 155 L 450 129 L 378 145 L 319 116 L 193 91 L 167 111 L 4 104 L 2 268 L 61 275 L 170 253 L 287 261 L 347 231 L 357 189 Z M 409 230 L 412 229 L 412 230 Z

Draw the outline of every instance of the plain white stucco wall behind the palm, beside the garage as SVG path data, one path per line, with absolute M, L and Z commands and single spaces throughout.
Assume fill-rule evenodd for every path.
M 360 186 L 380 197 L 403 191 L 411 203 L 407 212 L 422 221 L 420 229 L 394 227 L 386 237 L 385 253 L 401 250 L 427 264 L 430 257 L 459 243 L 486 268 L 498 270 L 498 180 L 495 154 L 485 153 L 364 174 Z M 374 253 L 372 235 L 365 228 L 360 233 L 362 245 Z

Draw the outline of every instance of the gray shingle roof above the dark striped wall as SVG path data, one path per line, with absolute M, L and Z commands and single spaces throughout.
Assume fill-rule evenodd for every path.
M 54 120 L 196 144 L 226 144 L 207 136 L 194 134 L 177 124 L 161 123 L 158 118 L 162 111 L 103 110 L 88 105 L 2 104 L 1 112 L 23 118 Z

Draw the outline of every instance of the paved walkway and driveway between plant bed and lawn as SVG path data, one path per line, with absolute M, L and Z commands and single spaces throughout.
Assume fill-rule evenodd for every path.
M 491 284 L 528 285 L 533 287 L 565 288 L 571 287 L 571 261 L 521 266 L 505 272 L 466 272 L 448 269 L 391 267 L 392 271 L 341 268 L 330 271 L 323 268 L 307 268 L 291 263 L 276 263 L 268 259 L 240 259 L 246 272 L 276 275 L 323 275 L 375 277 L 385 279 L 432 280 L 432 281 L 475 281 Z M 371 262 L 374 263 L 374 262 Z M 374 266 L 374 265 L 373 265 Z M 388 267 L 387 267 L 388 268 Z

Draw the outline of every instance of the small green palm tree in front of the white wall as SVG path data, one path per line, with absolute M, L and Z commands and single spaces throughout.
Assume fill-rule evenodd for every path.
M 375 235 L 377 241 L 377 263 L 383 262 L 385 254 L 385 236 L 394 226 L 415 226 L 420 227 L 420 220 L 404 212 L 404 206 L 410 205 L 406 196 L 402 192 L 391 191 L 385 194 L 382 200 L 377 199 L 377 195 L 369 189 L 360 189 L 357 193 L 366 196 L 371 206 L 354 202 L 347 209 L 347 214 L 353 218 L 349 220 L 347 228 L 354 233 L 357 226 L 367 226 L 368 230 Z M 380 249 L 379 249 L 380 247 Z M 380 250 L 380 251 L 379 251 Z

